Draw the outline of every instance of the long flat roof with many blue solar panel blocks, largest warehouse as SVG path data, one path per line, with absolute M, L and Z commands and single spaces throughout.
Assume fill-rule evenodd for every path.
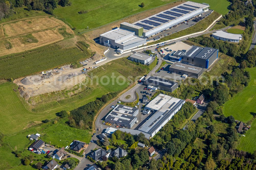
M 194 11 L 203 11 L 203 9 L 207 7 L 209 7 L 209 5 L 187 1 L 173 8 L 164 10 L 158 14 L 134 22 L 133 25 L 143 27 L 143 32 L 147 32 L 149 30 L 158 28 L 168 22 L 172 22 L 181 17 L 184 17 Z

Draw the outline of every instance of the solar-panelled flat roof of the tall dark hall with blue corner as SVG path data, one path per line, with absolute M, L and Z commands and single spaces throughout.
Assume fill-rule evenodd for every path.
M 183 53 L 182 56 L 209 59 L 216 51 L 218 51 L 218 49 L 193 45 L 185 53 Z

